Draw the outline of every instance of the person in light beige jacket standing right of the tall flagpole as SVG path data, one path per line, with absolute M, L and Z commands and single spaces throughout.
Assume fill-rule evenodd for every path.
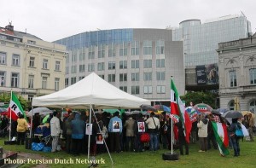
M 200 150 L 198 152 L 206 152 L 207 151 L 207 128 L 208 128 L 208 119 L 207 116 L 204 118 L 202 114 L 199 115 L 198 123 L 198 137 L 200 143 Z

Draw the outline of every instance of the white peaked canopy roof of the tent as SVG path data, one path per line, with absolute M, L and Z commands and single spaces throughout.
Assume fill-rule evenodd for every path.
M 95 72 L 63 90 L 32 99 L 32 106 L 57 108 L 139 108 L 142 104 L 150 101 L 119 90 Z

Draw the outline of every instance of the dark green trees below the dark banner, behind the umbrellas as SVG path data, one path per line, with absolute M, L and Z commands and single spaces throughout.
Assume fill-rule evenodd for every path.
M 217 98 L 217 96 L 218 96 L 217 94 L 212 94 L 209 91 L 207 91 L 207 92 L 203 92 L 203 91 L 192 92 L 192 91 L 189 91 L 188 93 L 186 93 L 186 95 L 181 96 L 181 99 L 183 101 L 186 101 L 186 107 L 190 106 L 189 103 L 192 101 L 194 105 L 203 102 L 203 103 L 208 104 L 212 108 L 217 108 L 216 107 L 216 98 Z

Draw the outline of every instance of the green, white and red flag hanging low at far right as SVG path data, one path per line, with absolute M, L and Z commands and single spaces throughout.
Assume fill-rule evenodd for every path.
M 213 132 L 216 137 L 216 142 L 218 143 L 218 149 L 222 156 L 230 154 L 228 150 L 229 146 L 229 136 L 227 125 L 222 123 L 216 123 L 212 121 Z

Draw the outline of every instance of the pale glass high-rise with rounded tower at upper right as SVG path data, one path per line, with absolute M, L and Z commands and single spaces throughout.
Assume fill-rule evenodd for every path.
M 218 63 L 218 43 L 247 38 L 251 23 L 244 14 L 207 20 L 184 20 L 173 30 L 174 41 L 183 40 L 185 67 Z

